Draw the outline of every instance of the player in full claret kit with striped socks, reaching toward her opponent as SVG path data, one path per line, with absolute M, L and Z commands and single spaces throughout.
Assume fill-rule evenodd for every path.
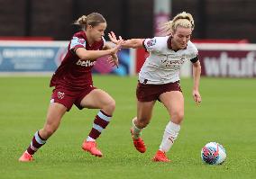
M 50 86 L 55 88 L 51 94 L 46 122 L 41 130 L 35 132 L 30 146 L 19 161 L 32 161 L 32 155 L 58 129 L 62 116 L 69 112 L 73 104 L 80 110 L 100 109 L 82 148 L 96 157 L 103 156 L 96 148 L 96 139 L 111 120 L 115 102 L 109 94 L 93 85 L 91 69 L 97 58 L 106 55 L 110 55 L 108 61 L 117 66 L 116 53 L 123 40 L 118 40 L 113 49 L 105 43 L 103 36 L 106 22 L 100 13 L 83 15 L 75 24 L 80 25 L 83 31 L 74 34 L 65 58 L 50 80 Z

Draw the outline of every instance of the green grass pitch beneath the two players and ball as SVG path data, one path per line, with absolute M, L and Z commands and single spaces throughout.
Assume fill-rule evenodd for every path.
M 255 79 L 202 78 L 199 107 L 192 100 L 192 79 L 182 79 L 185 119 L 168 153 L 172 162 L 162 164 L 151 157 L 169 121 L 165 108 L 156 103 L 142 132 L 148 150 L 141 154 L 133 148 L 129 131 L 136 114 L 137 77 L 94 76 L 95 85 L 116 101 L 114 117 L 97 140 L 105 157 L 92 157 L 80 147 L 97 110 L 73 106 L 35 160 L 20 163 L 18 158 L 45 121 L 49 81 L 49 76 L 0 77 L 0 178 L 256 178 Z M 224 165 L 202 164 L 201 148 L 210 141 L 226 149 Z

